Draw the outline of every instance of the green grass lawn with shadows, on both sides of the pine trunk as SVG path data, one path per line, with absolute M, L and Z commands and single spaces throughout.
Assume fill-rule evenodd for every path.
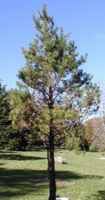
M 70 200 L 105 200 L 102 153 L 57 151 L 57 193 Z M 46 152 L 0 152 L 0 200 L 47 200 Z

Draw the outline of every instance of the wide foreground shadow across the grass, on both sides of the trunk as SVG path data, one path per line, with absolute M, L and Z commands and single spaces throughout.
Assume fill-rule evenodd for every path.
M 56 177 L 60 181 L 103 178 L 102 176 L 81 175 L 70 171 L 57 171 Z M 0 168 L 0 188 L 0 199 L 2 200 L 31 192 L 43 196 L 44 192 L 48 192 L 48 173 L 46 170 Z

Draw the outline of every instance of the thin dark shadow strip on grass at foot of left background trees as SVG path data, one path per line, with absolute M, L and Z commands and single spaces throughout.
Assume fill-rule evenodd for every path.
M 23 156 L 14 152 L 2 152 L 0 151 L 0 159 L 5 160 L 42 160 L 46 159 L 46 157 L 39 157 L 39 156 Z

